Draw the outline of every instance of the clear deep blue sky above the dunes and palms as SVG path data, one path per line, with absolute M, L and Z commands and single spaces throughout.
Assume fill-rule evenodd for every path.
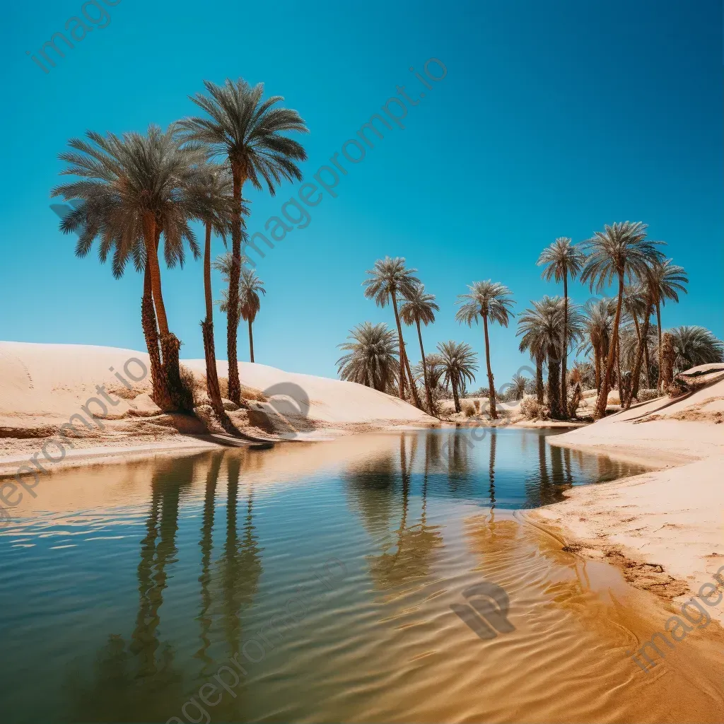
M 109 21 L 85 4 L 98 22 L 86 21 L 92 32 L 47 73 L 26 51 L 37 56 L 80 15 L 80 0 L 4 9 L 0 339 L 144 348 L 140 275 L 114 280 L 95 253 L 75 258 L 75 237 L 57 230 L 57 153 L 86 129 L 167 125 L 193 113 L 188 95 L 204 79 L 240 76 L 263 81 L 306 120 L 306 178 L 397 96 L 396 85 L 418 101 L 407 104 L 404 130 L 385 130 L 362 161 L 346 164 L 337 198 L 324 194 L 308 226 L 259 261 L 268 293 L 256 361 L 334 376 L 336 345 L 351 327 L 392 322 L 361 287 L 384 255 L 404 256 L 437 295 L 427 350 L 455 339 L 482 355 L 481 329 L 454 319 L 466 285 L 503 282 L 521 311 L 560 291 L 535 266 L 544 246 L 626 219 L 649 224 L 689 271 L 689 295 L 665 307 L 665 327 L 703 324 L 723 336 L 720 1 L 114 2 L 103 5 Z M 432 57 L 447 75 L 427 89 L 408 69 L 422 72 Z M 250 229 L 298 186 L 275 198 L 245 189 Z M 164 269 L 163 281 L 182 356 L 202 358 L 201 264 Z M 218 277 L 214 286 L 218 295 Z M 576 282 L 571 295 L 591 293 Z M 224 326 L 217 315 L 219 356 Z M 415 342 L 411 330 L 411 351 Z M 493 328 L 491 342 L 500 384 L 527 360 L 515 325 Z M 248 358 L 244 329 L 239 349 Z

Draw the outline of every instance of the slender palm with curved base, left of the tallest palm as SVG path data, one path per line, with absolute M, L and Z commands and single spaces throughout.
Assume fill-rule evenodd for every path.
M 226 243 L 231 224 L 231 190 L 231 174 L 228 169 L 217 164 L 206 164 L 198 169 L 197 181 L 189 191 L 189 201 L 191 213 L 204 227 L 203 297 L 206 317 L 201 321 L 201 332 L 203 353 L 206 358 L 206 393 L 209 395 L 211 408 L 219 423 L 230 434 L 238 435 L 222 403 L 219 374 L 216 370 L 214 302 L 211 296 L 211 235 L 214 233 L 222 237 Z

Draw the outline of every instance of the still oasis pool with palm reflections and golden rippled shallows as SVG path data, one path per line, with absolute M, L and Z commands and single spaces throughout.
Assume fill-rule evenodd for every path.
M 667 614 L 516 512 L 639 472 L 501 429 L 57 473 L 0 534 L 0 720 L 715 721 L 708 649 L 644 674 Z M 480 581 L 487 640 L 450 607 Z

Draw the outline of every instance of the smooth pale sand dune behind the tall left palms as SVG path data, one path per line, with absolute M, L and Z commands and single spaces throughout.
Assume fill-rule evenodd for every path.
M 217 364 L 223 385 L 228 366 Z M 182 360 L 182 365 L 193 372 L 203 409 L 204 361 Z M 67 450 L 63 465 L 114 452 L 216 447 L 200 421 L 161 413 L 148 395 L 151 374 L 144 375 L 144 367 L 148 370 L 148 354 L 138 350 L 0 342 L 0 474 L 14 472 L 13 466 L 17 469 L 18 463 L 39 452 L 73 415 L 88 422 L 75 418 L 72 437 L 67 438 L 72 450 Z M 230 416 L 243 432 L 261 439 L 320 439 L 437 423 L 402 400 L 353 382 L 248 362 L 239 367 L 243 396 L 253 411 L 264 415 L 250 418 L 245 411 L 231 411 Z M 89 402 L 91 398 L 98 401 Z M 97 419 L 91 421 L 89 413 Z M 268 424 L 259 427 L 259 420 Z M 58 455 L 55 450 L 53 454 Z

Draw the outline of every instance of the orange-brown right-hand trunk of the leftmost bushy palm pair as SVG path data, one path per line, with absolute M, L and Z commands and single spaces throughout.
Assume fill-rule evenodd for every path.
M 164 374 L 166 375 L 166 384 L 172 403 L 181 410 L 191 411 L 193 409 L 193 400 L 189 399 L 189 395 L 185 392 L 181 384 L 179 362 L 181 343 L 178 337 L 169 331 L 164 297 L 161 292 L 159 238 L 160 230 L 157 229 L 155 216 L 151 213 L 146 213 L 143 217 L 143 243 L 146 246 L 146 267 L 151 276 L 153 303 L 156 306 L 156 319 L 159 323 L 161 358 L 163 360 Z

